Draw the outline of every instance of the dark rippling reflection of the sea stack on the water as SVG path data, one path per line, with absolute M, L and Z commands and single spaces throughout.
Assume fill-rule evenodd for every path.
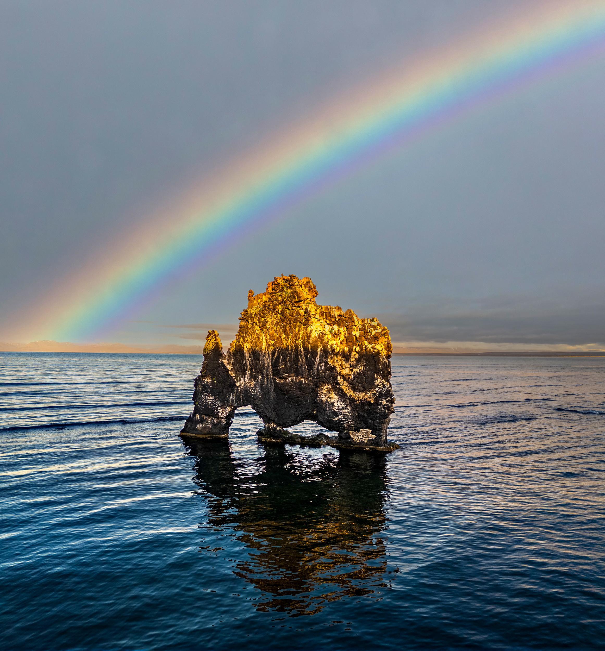
M 257 609 L 313 615 L 386 586 L 384 456 L 341 451 L 309 468 L 295 449 L 267 445 L 250 476 L 227 443 L 188 449 L 208 499 L 207 525 L 246 544 L 234 574 L 262 590 Z

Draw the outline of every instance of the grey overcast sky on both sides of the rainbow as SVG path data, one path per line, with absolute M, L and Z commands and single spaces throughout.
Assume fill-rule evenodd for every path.
M 0 340 L 22 339 L 23 310 L 157 202 L 529 4 L 1 2 Z M 247 290 L 296 273 L 323 303 L 380 314 L 397 341 L 605 347 L 604 81 L 595 58 L 429 133 L 233 243 L 104 339 L 182 343 L 197 331 L 163 326 L 234 324 Z

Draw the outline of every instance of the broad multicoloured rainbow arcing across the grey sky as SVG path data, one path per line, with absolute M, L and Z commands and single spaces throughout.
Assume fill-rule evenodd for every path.
M 247 229 L 411 137 L 605 49 L 605 0 L 534 6 L 498 28 L 407 61 L 243 154 L 49 293 L 38 337 L 81 341 Z M 38 306 L 38 315 L 40 314 Z

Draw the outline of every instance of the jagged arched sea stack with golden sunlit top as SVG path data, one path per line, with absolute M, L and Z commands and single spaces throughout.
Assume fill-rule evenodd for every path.
M 225 438 L 235 409 L 250 405 L 262 418 L 264 442 L 391 451 L 387 426 L 391 337 L 377 319 L 317 305 L 310 278 L 275 277 L 266 292 L 248 292 L 248 307 L 227 353 L 216 330 L 195 378 L 193 412 L 181 432 Z M 338 436 L 288 432 L 315 421 Z

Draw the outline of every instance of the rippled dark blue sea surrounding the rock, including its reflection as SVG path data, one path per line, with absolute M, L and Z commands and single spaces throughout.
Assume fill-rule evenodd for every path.
M 4 649 L 603 648 L 605 359 L 395 357 L 386 456 L 186 445 L 200 365 L 0 353 Z

